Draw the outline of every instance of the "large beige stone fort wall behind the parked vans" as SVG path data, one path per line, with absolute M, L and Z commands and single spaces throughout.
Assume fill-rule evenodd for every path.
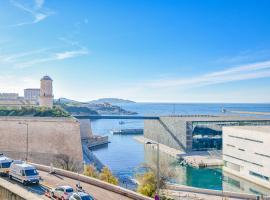
M 80 124 L 73 118 L 0 117 L 0 152 L 25 159 L 28 131 L 29 161 L 50 164 L 67 154 L 82 163 Z

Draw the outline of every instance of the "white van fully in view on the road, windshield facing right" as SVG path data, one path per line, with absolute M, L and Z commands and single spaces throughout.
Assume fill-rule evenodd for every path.
M 39 184 L 39 174 L 37 169 L 22 161 L 13 161 L 10 166 L 9 178 L 23 183 L 24 185 L 29 183 Z

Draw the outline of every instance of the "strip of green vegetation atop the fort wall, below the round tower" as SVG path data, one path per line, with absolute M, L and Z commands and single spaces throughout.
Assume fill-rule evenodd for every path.
M 0 116 L 70 117 L 70 114 L 58 106 L 54 106 L 53 108 L 44 108 L 44 107 L 7 108 L 7 107 L 0 107 Z

